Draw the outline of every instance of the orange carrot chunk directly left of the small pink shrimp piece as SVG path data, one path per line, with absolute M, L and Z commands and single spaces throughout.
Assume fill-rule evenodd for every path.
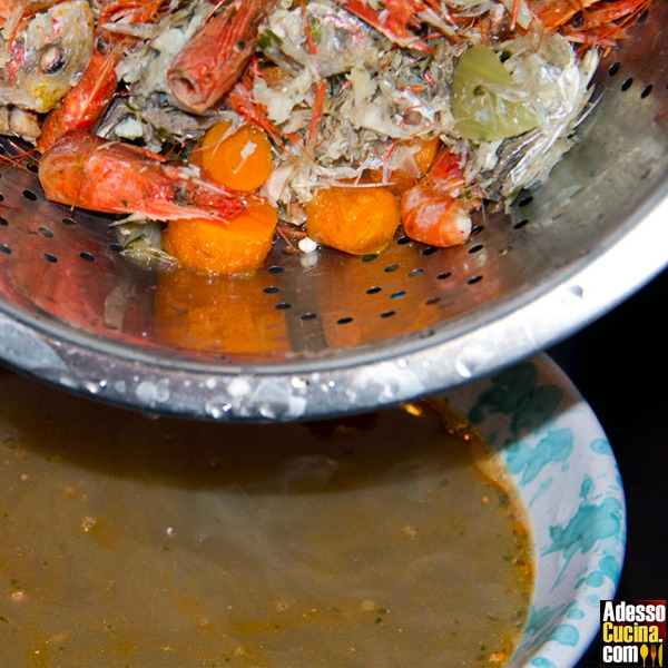
M 327 188 L 306 205 L 308 236 L 353 255 L 380 253 L 400 223 L 396 197 L 381 187 Z

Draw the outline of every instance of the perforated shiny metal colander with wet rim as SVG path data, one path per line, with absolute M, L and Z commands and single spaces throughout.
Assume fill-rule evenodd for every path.
M 540 188 L 463 247 L 286 253 L 246 279 L 147 271 L 110 218 L 0 171 L 0 357 L 154 413 L 287 421 L 432 394 L 528 356 L 668 261 L 668 3 L 602 59 L 593 112 Z M 7 145 L 6 145 L 7 146 Z

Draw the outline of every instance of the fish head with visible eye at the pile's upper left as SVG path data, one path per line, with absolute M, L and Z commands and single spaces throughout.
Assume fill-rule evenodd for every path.
M 45 114 L 81 78 L 92 55 L 94 12 L 60 2 L 0 36 L 0 104 Z

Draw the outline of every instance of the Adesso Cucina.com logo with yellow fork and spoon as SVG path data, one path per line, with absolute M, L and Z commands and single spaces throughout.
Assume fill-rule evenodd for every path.
M 664 668 L 666 601 L 601 601 L 601 666 Z

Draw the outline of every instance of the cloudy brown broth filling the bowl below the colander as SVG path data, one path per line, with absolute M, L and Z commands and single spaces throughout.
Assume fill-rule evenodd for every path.
M 522 507 L 441 402 L 226 425 L 4 374 L 0 490 L 8 668 L 500 666 L 530 606 Z

